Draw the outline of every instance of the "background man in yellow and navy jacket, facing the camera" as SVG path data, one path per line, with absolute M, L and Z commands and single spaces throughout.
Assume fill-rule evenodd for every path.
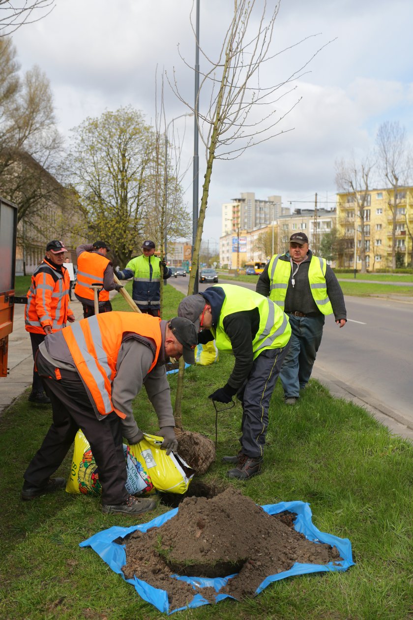
M 129 260 L 123 270 L 117 270 L 120 280 L 133 278 L 132 298 L 141 312 L 160 316 L 160 272 L 167 280 L 171 275 L 165 261 L 154 256 L 155 244 L 150 239 L 142 244 L 142 255 Z M 118 269 L 116 267 L 116 269 Z

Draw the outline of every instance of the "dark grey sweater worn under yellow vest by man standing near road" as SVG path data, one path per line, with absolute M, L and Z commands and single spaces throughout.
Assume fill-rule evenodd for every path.
M 302 263 L 299 263 L 299 267 L 294 276 L 294 286 L 291 283 L 291 277 L 287 286 L 287 295 L 285 296 L 285 312 L 303 312 L 308 316 L 320 316 L 321 312 L 317 308 L 317 304 L 311 294 L 310 283 L 308 282 L 308 268 L 310 267 L 311 257 L 313 256 L 311 250 L 308 250 L 308 254 Z M 280 257 L 280 260 L 286 260 L 290 262 L 290 254 L 284 254 Z M 264 268 L 263 273 L 258 278 L 256 285 L 257 293 L 261 293 L 264 297 L 269 296 L 270 291 L 270 279 L 268 273 L 268 265 Z M 293 262 L 294 272 L 297 268 L 297 264 Z M 327 294 L 333 306 L 334 318 L 336 321 L 340 319 L 347 320 L 346 305 L 344 304 L 344 295 L 342 293 L 339 282 L 333 269 L 327 265 L 326 268 L 326 285 Z

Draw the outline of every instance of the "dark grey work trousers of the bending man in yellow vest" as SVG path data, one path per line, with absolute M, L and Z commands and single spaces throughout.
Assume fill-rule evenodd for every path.
M 266 349 L 260 353 L 254 360 L 245 386 L 237 394 L 243 405 L 241 452 L 251 458 L 263 456 L 269 402 L 289 345 L 287 343 L 285 347 Z

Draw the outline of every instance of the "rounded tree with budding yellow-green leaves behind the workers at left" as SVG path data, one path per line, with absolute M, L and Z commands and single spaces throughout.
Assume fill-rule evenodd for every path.
M 87 212 L 90 238 L 105 239 L 120 265 L 136 254 L 152 202 L 155 133 L 141 112 L 121 107 L 72 130 L 69 179 Z

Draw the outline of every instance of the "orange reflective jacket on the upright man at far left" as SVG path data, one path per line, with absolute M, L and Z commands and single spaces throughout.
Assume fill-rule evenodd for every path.
M 69 272 L 66 267 L 56 269 L 46 259 L 35 268 L 27 292 L 24 312 L 25 329 L 32 334 L 44 334 L 50 325 L 52 332 L 66 327 L 69 308 Z

